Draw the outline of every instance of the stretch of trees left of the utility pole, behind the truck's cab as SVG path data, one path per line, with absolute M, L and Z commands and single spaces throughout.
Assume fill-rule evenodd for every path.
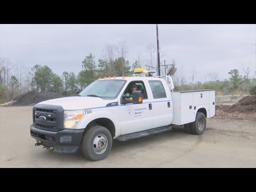
M 148 63 L 153 65 L 154 44 L 149 44 L 146 50 L 150 55 Z M 128 51 L 125 42 L 107 44 L 105 52 L 106 57 L 98 61 L 92 53 L 86 55 L 77 75 L 69 71 L 58 75 L 47 65 L 35 65 L 28 69 L 22 65 L 11 65 L 9 59 L 0 58 L 0 103 L 12 100 L 29 90 L 75 95 L 76 90 L 83 90 L 98 77 L 131 76 L 134 68 L 141 67 L 141 53 L 138 53 L 138 61 L 132 65 L 126 60 Z

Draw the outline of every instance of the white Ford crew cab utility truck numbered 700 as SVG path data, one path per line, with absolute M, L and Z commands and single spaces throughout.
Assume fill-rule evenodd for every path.
M 125 95 L 134 83 L 137 91 Z M 176 92 L 171 76 L 105 77 L 76 97 L 37 103 L 30 135 L 36 146 L 57 153 L 79 149 L 85 158 L 99 161 L 108 156 L 113 139 L 145 137 L 170 131 L 174 125 L 200 135 L 206 118 L 214 115 L 214 90 Z

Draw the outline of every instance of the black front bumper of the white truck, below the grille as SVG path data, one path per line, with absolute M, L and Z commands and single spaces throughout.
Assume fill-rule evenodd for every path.
M 84 130 L 45 131 L 30 125 L 30 135 L 36 139 L 36 146 L 54 147 L 57 153 L 76 153 L 81 145 Z

